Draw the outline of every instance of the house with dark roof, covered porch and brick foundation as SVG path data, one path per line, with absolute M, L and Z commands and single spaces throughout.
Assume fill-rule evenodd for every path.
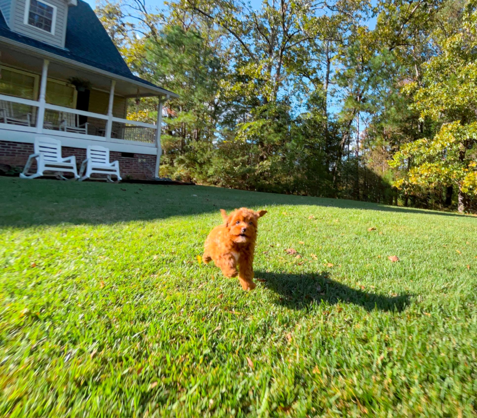
M 129 70 L 82 0 L 0 0 L 0 164 L 25 165 L 37 136 L 78 164 L 97 144 L 123 178 L 158 176 L 162 104 L 176 94 Z M 131 98 L 158 97 L 154 124 L 127 119 Z

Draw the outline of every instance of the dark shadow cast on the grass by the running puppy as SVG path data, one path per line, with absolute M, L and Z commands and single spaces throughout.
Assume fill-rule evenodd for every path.
M 355 304 L 367 311 L 401 312 L 409 305 L 410 295 L 385 296 L 353 289 L 329 278 L 330 273 L 293 274 L 256 271 L 255 277 L 264 287 L 279 295 L 278 304 L 292 309 L 304 309 L 313 302 Z

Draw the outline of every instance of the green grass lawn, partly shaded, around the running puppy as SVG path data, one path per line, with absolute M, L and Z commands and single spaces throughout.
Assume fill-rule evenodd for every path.
M 2 417 L 476 415 L 475 217 L 199 186 L 0 193 Z M 241 206 L 268 210 L 250 293 L 197 259 Z

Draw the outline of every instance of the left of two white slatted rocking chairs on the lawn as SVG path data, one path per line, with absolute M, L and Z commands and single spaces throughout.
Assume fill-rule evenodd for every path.
M 76 158 L 74 156 L 61 157 L 61 142 L 53 138 L 37 137 L 34 145 L 35 153 L 28 157 L 28 161 L 20 173 L 20 178 L 37 178 L 43 175 L 44 171 L 54 171 L 56 177 L 68 180 L 62 175 L 64 172 L 73 173 L 71 180 L 79 178 L 76 170 Z M 37 172 L 29 173 L 33 160 L 37 160 Z

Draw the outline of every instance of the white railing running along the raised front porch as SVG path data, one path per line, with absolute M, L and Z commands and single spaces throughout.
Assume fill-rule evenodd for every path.
M 111 117 L 53 104 L 44 104 L 43 120 L 37 120 L 40 101 L 0 94 L 0 127 L 7 129 L 52 133 L 85 139 L 124 140 L 156 143 L 157 125 L 135 120 Z M 5 110 L 1 110 L 5 109 Z M 29 116 L 25 116 L 29 115 Z M 108 124 L 108 120 L 111 123 Z M 38 126 L 41 127 L 38 130 Z M 109 128 L 109 129 L 108 129 Z

